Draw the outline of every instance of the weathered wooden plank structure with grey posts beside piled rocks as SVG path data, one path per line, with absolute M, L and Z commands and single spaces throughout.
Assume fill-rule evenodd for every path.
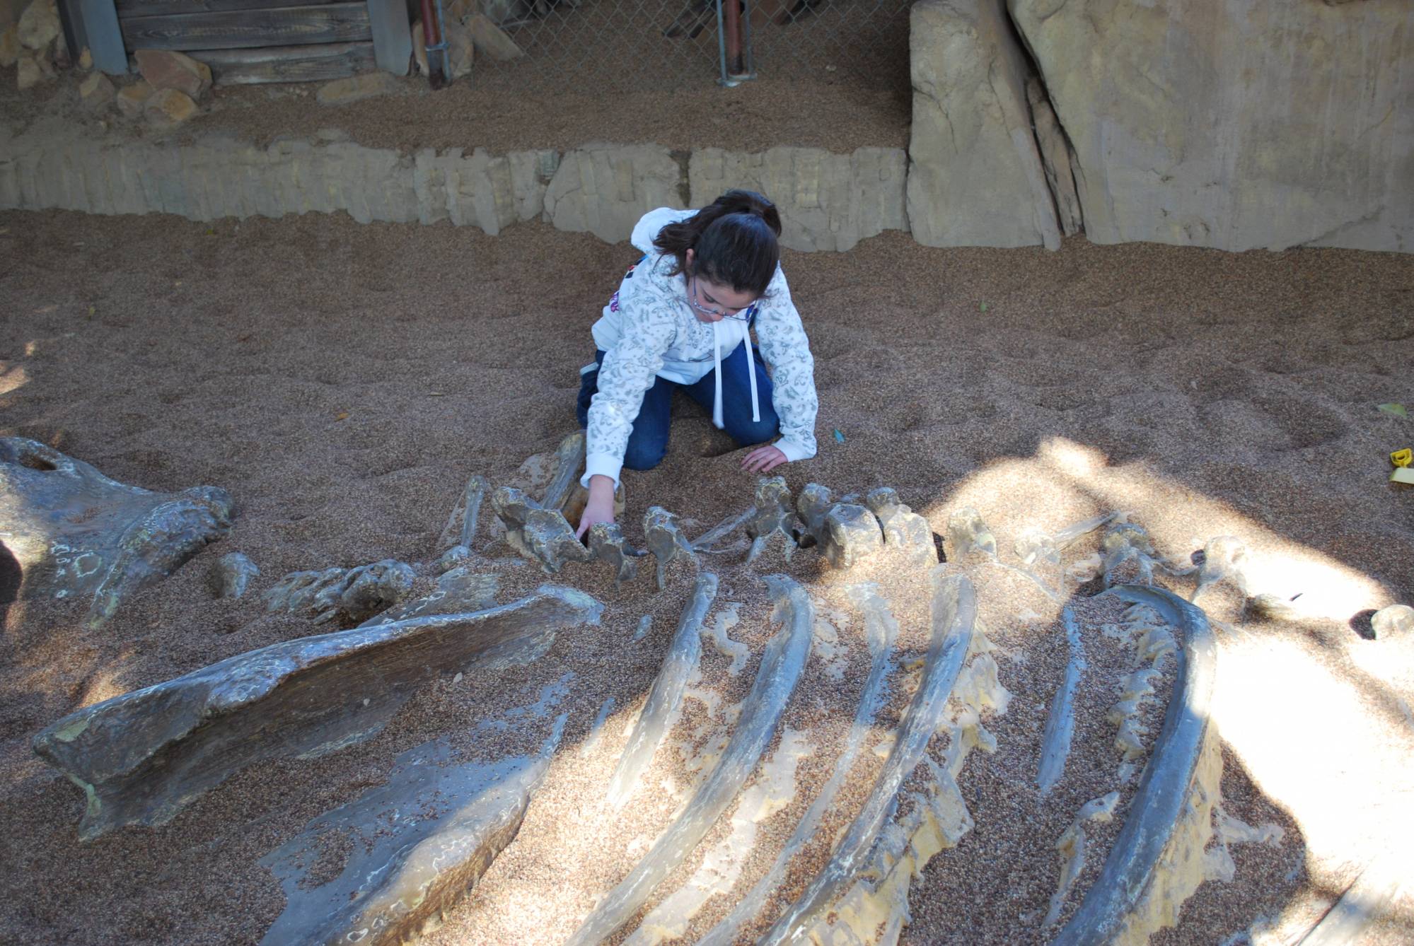
M 178 49 L 222 83 L 407 75 L 404 0 L 59 0 L 69 48 L 109 74 L 137 49 Z

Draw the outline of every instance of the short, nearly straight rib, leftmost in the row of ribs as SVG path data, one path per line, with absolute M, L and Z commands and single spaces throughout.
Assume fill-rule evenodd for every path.
M 697 660 L 701 656 L 703 618 L 707 617 L 715 598 L 717 576 L 710 571 L 697 576 L 693 597 L 683 608 L 683 617 L 677 621 L 677 631 L 673 633 L 673 642 L 663 658 L 663 666 L 653 679 L 648 701 L 629 731 L 624 755 L 619 757 L 618 768 L 614 769 L 614 778 L 609 781 L 608 800 L 615 807 L 622 806 L 638 790 L 638 782 L 648 764 L 652 762 L 653 752 L 658 751 L 663 737 L 667 735 L 677 718 L 687 677 L 697 669 Z

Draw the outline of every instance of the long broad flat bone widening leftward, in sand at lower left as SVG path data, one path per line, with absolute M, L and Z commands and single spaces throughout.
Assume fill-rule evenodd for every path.
M 314 757 L 376 734 L 424 682 L 553 628 L 597 624 L 573 588 L 472 614 L 284 641 L 90 706 L 34 737 L 88 796 L 79 837 L 163 824 L 264 758 Z

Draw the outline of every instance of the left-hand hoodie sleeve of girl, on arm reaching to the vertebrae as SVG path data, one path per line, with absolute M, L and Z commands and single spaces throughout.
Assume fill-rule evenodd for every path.
M 614 479 L 618 488 L 624 451 L 633 433 L 633 420 L 643 406 L 643 392 L 653 386 L 666 352 L 677 337 L 677 301 L 655 260 L 649 271 L 641 267 L 619 286 L 622 332 L 604 352 L 598 393 L 590 402 L 585 431 L 585 462 L 581 485 L 597 474 Z M 670 262 L 670 260 L 669 260 Z

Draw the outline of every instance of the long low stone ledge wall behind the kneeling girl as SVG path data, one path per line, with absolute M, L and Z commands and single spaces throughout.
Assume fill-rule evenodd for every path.
M 450 221 L 491 235 L 543 219 L 617 242 L 628 239 L 645 211 L 752 187 L 778 195 L 788 246 L 833 250 L 884 229 L 908 229 L 904 180 L 899 148 L 708 148 L 687 156 L 649 144 L 592 144 L 566 153 L 404 154 L 338 133 L 256 147 L 219 136 L 187 144 L 120 133 L 96 139 L 59 120 L 37 122 L 23 134 L 0 126 L 4 209 L 195 221 L 342 211 L 361 223 Z

